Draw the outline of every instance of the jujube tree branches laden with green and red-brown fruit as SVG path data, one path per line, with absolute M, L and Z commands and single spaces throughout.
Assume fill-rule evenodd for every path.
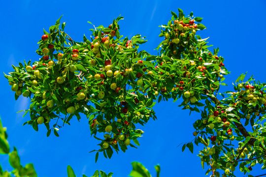
M 91 135 L 100 141 L 100 148 L 93 150 L 97 161 L 99 152 L 111 158 L 113 150 L 139 146 L 143 131 L 135 124 L 156 119 L 152 107 L 157 101 L 182 99 L 182 109 L 201 115 L 193 124 L 194 141 L 184 144 L 182 151 L 187 147 L 193 152 L 194 144 L 203 144 L 199 157 L 203 168 L 210 166 L 207 173 L 232 177 L 235 167 L 249 173 L 257 163 L 264 163 L 265 169 L 266 84 L 253 78 L 244 82 L 242 74 L 234 91 L 220 93 L 229 74 L 225 59 L 218 56 L 218 48 L 209 51 L 207 38 L 198 35 L 205 29 L 202 18 L 178 11 L 161 26 L 159 36 L 164 39 L 158 56 L 138 51 L 146 42 L 141 35 L 120 35 L 118 22 L 123 17 L 107 28 L 94 27 L 83 42 L 74 41 L 64 31 L 66 23 L 57 20 L 38 42 L 40 59 L 19 63 L 5 75 L 15 99 L 21 94 L 31 99 L 25 110 L 31 119 L 24 124 L 36 131 L 46 126 L 47 136 L 51 131 L 59 136 L 59 128 L 85 114 Z M 248 125 L 252 132 L 246 130 Z

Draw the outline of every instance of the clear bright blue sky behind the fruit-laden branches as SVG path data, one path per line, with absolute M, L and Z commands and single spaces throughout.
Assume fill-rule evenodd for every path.
M 18 65 L 23 60 L 36 60 L 34 52 L 37 41 L 47 29 L 61 19 L 66 22 L 65 31 L 75 40 L 82 41 L 83 34 L 90 36 L 89 29 L 94 25 L 107 27 L 120 14 L 125 18 L 120 21 L 120 34 L 132 37 L 134 34 L 146 36 L 148 42 L 141 46 L 153 55 L 162 38 L 158 37 L 160 28 L 171 18 L 170 11 L 183 9 L 185 15 L 191 11 L 195 16 L 203 17 L 207 27 L 200 32 L 201 37 L 210 37 L 209 44 L 219 47 L 219 55 L 225 57 L 225 65 L 230 75 L 225 82 L 225 90 L 233 90 L 232 82 L 248 71 L 247 76 L 266 82 L 266 1 L 265 0 L 126 0 L 126 1 L 39 1 L 39 0 L 0 0 L 0 73 L 13 71 L 11 64 Z M 39 177 L 66 177 L 66 167 L 70 165 L 77 177 L 82 174 L 93 175 L 99 169 L 107 173 L 114 172 L 114 177 L 126 177 L 132 170 L 131 162 L 138 161 L 155 176 L 154 166 L 161 165 L 162 177 L 204 176 L 197 156 L 202 147 L 195 147 L 194 154 L 188 149 L 181 152 L 177 146 L 189 142 L 194 137 L 193 122 L 200 115 L 181 110 L 179 102 L 162 102 L 154 107 L 158 120 L 150 120 L 139 138 L 140 147 L 130 148 L 126 153 L 113 154 L 112 159 L 105 159 L 102 154 L 95 164 L 95 153 L 89 151 L 99 148 L 99 143 L 90 138 L 88 120 L 83 116 L 78 122 L 71 120 L 71 126 L 60 129 L 60 137 L 46 137 L 46 128 L 39 127 L 35 132 L 29 125 L 22 124 L 29 120 L 29 115 L 22 118 L 28 109 L 29 99 L 14 99 L 7 80 L 0 77 L 1 106 L 0 116 L 3 126 L 7 127 L 8 141 L 18 148 L 21 163 L 33 163 Z M 11 168 L 8 158 L 0 155 L 0 164 L 4 170 Z M 261 175 L 260 168 L 255 168 L 251 175 Z M 243 176 L 237 174 L 236 176 Z

